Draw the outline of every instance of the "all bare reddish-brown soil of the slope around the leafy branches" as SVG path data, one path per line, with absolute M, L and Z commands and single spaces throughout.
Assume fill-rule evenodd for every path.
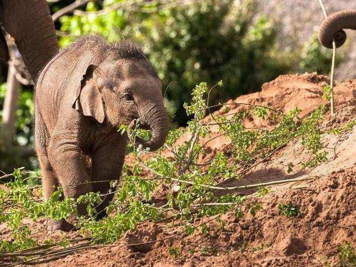
M 241 96 L 229 103 L 269 105 L 287 112 L 299 107 L 302 116 L 309 114 L 322 100 L 321 87 L 329 80 L 316 74 L 285 75 L 262 86 L 262 91 Z M 335 109 L 330 112 L 322 127 L 340 127 L 356 119 L 356 80 L 336 83 Z M 232 105 L 228 112 L 243 108 Z M 221 113 L 223 110 L 217 111 Z M 205 118 L 208 120 L 208 118 Z M 259 120 L 246 122 L 247 127 L 272 128 Z M 212 128 L 212 137 L 216 129 Z M 184 138 L 182 138 L 184 139 Z M 184 140 L 179 140 L 182 142 Z M 312 180 L 298 184 L 270 186 L 272 191 L 257 199 L 255 190 L 242 191 L 251 203 L 259 201 L 263 209 L 253 217 L 247 211 L 237 220 L 233 212 L 221 216 L 225 227 L 215 217 L 196 221 L 206 222 L 208 234 L 195 231 L 185 234 L 184 226 L 171 223 L 144 223 L 127 232 L 112 247 L 86 249 L 65 258 L 46 263 L 53 266 L 323 266 L 339 261 L 337 247 L 344 241 L 356 244 L 356 129 L 341 135 L 324 134 L 322 143 L 329 151 L 328 162 L 297 174 L 288 174 L 286 165 L 299 166 L 309 154 L 300 140 L 293 140 L 274 154 L 271 160 L 258 165 L 243 179 L 225 181 L 224 185 L 244 185 L 288 178 L 311 176 Z M 228 144 L 224 138 L 216 138 L 207 147 L 210 154 Z M 168 153 L 167 153 L 168 154 Z M 128 157 L 130 160 L 130 157 Z M 204 159 L 202 159 L 204 160 Z M 221 192 L 216 192 L 221 194 Z M 296 217 L 279 214 L 279 203 L 293 203 L 301 213 Z M 43 220 L 32 224 L 38 238 L 48 239 Z M 0 225 L 0 234 L 9 238 L 9 231 Z M 70 233 L 78 236 L 79 233 Z M 59 239 L 69 233 L 54 233 Z M 140 246 L 128 244 L 152 242 Z M 180 256 L 174 258 L 170 247 L 179 248 Z

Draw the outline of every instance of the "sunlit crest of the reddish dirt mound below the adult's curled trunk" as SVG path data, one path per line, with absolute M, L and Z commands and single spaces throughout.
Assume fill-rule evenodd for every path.
M 328 104 L 322 99 L 322 86 L 330 83 L 326 76 L 316 73 L 305 73 L 303 75 L 281 75 L 275 80 L 264 83 L 262 91 L 244 95 L 230 100 L 231 105 L 228 113 L 234 113 L 244 108 L 238 103 L 248 103 L 261 106 L 271 106 L 274 109 L 288 112 L 294 107 L 302 109 L 301 115 L 305 116 L 321 104 Z M 336 110 L 356 104 L 356 80 L 347 80 L 342 83 L 336 82 L 334 87 L 334 98 Z M 327 106 L 329 109 L 329 105 Z M 222 114 L 224 109 L 217 113 Z M 330 116 L 328 110 L 327 117 Z M 261 122 L 251 122 L 247 126 L 261 126 Z

